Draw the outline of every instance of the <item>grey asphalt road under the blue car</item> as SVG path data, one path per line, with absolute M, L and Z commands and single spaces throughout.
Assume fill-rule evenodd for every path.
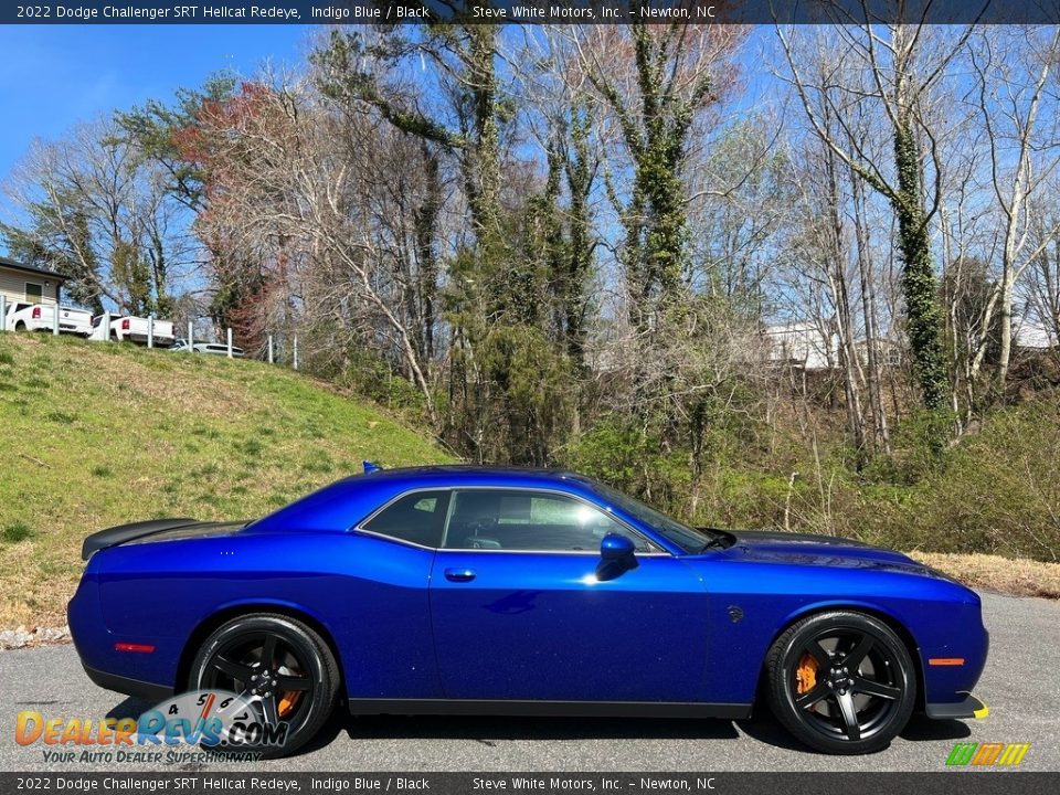
M 976 695 L 989 704 L 990 717 L 967 722 L 914 718 L 890 748 L 871 756 L 807 751 L 767 710 L 738 722 L 337 716 L 318 742 L 292 759 L 254 763 L 253 770 L 215 762 L 184 768 L 937 772 L 955 742 L 1029 742 L 1021 770 L 1060 771 L 1060 604 L 984 594 L 983 605 L 990 657 Z M 68 645 L 0 653 L 0 770 L 55 772 L 93 766 L 46 763 L 40 744 L 18 745 L 20 710 L 70 719 L 138 716 L 151 706 L 95 687 Z M 116 767 L 146 766 L 97 770 Z

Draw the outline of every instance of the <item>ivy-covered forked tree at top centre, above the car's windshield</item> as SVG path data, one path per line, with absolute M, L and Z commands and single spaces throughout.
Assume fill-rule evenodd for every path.
M 646 330 L 680 296 L 688 267 L 685 169 L 709 108 L 731 88 L 728 61 L 745 31 L 719 25 L 571 28 L 579 74 L 614 118 L 632 174 L 618 200 L 621 258 L 634 324 Z

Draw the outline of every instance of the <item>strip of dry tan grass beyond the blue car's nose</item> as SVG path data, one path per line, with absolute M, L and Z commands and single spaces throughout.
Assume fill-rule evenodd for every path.
M 1060 598 L 1060 563 L 1042 563 L 1025 558 L 1014 560 L 988 554 L 908 554 L 971 587 L 1013 596 Z

